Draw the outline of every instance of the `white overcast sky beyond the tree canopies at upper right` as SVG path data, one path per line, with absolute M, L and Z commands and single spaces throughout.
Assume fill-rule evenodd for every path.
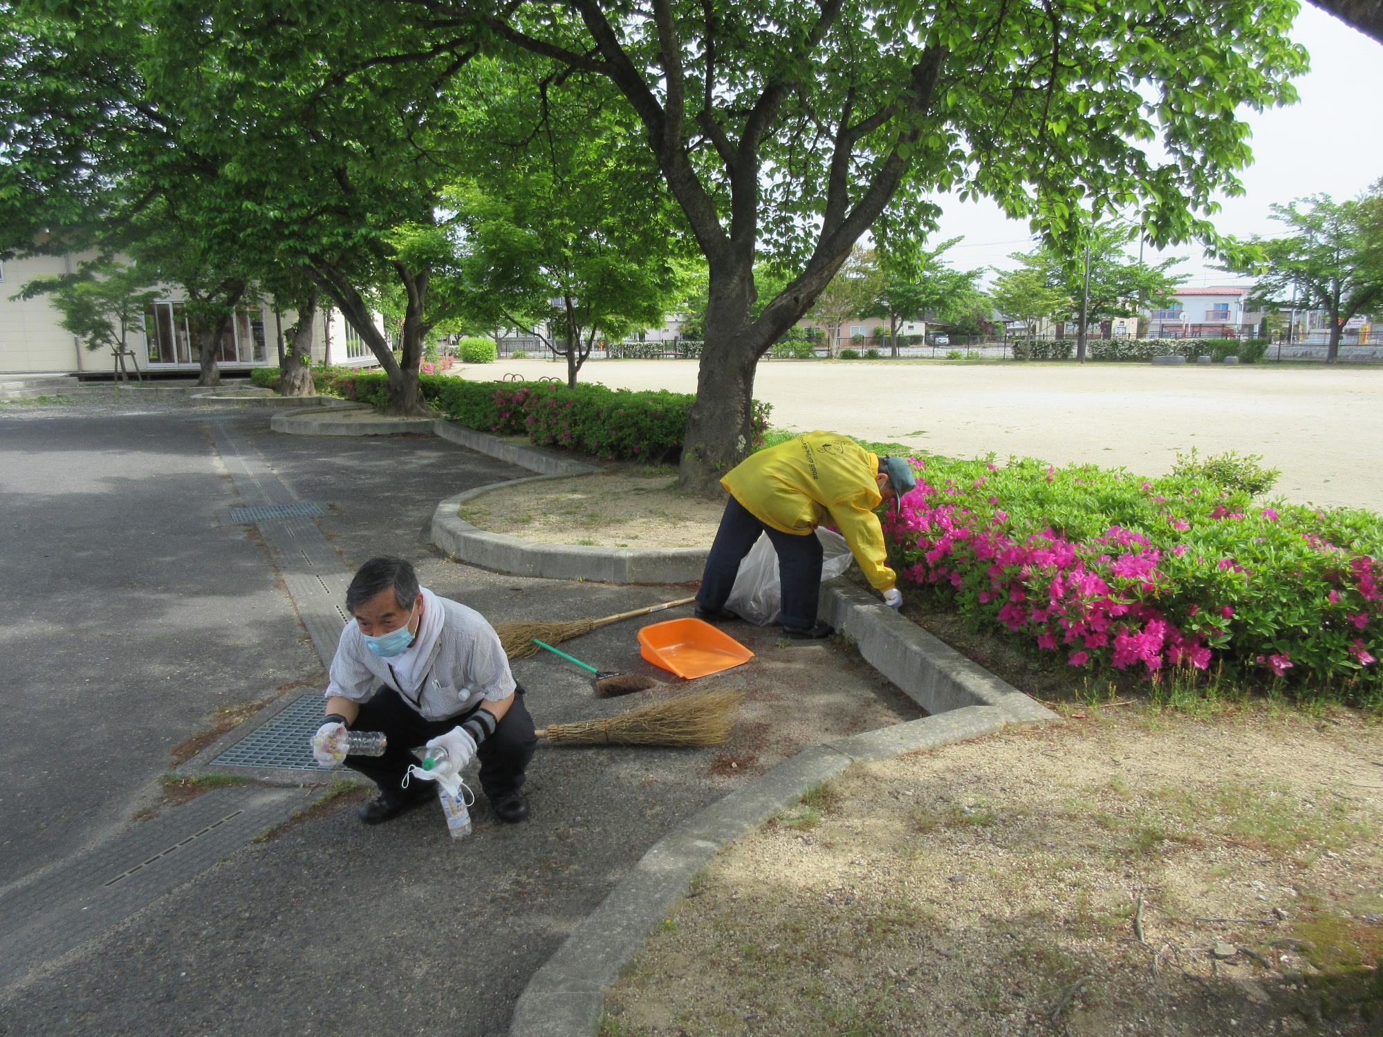
M 1383 120 L 1376 93 L 1383 44 L 1310 3 L 1301 4 L 1292 36 L 1311 54 L 1311 71 L 1294 80 L 1301 100 L 1289 108 L 1246 112 L 1254 162 L 1239 174 L 1245 194 L 1220 199 L 1224 207 L 1212 217 L 1223 234 L 1278 234 L 1282 224 L 1268 218 L 1274 202 L 1317 192 L 1339 202 L 1355 198 L 1383 177 Z M 1032 245 L 1028 224 L 1008 220 L 992 202 L 963 203 L 950 196 L 939 200 L 945 212 L 932 241 L 964 235 L 946 253 L 958 268 L 1011 268 L 1017 264 L 1008 254 Z M 1171 256 L 1187 257 L 1177 271 L 1192 275 L 1188 286 L 1246 283 L 1213 270 L 1195 243 L 1164 254 L 1144 252 L 1148 261 Z

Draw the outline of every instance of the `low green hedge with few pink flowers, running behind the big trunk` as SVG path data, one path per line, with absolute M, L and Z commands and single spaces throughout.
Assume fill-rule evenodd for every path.
M 252 375 L 256 384 L 266 376 L 272 384 L 278 372 L 260 368 Z M 429 404 L 467 429 L 527 436 L 541 447 L 649 463 L 680 456 L 687 412 L 696 402 L 690 393 L 635 393 L 597 384 L 567 389 L 552 382 L 466 382 L 447 375 L 420 375 L 418 384 Z M 318 391 L 382 409 L 389 376 L 383 372 L 331 372 L 318 383 Z M 754 401 L 754 445 L 768 430 L 769 409 L 769 404 Z

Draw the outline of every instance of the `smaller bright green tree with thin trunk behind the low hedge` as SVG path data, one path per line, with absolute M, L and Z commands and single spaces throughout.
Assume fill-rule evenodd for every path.
M 443 199 L 458 214 L 461 308 L 537 335 L 575 386 L 597 335 L 661 325 L 683 295 L 682 223 L 606 80 L 548 82 L 531 58 L 483 65 L 472 111 L 492 127 L 488 160 Z

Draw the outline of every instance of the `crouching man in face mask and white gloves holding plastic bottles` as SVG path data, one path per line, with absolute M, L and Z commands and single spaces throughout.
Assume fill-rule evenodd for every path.
M 383 731 L 383 756 L 346 756 L 379 785 L 361 812 L 379 824 L 437 798 L 431 781 L 404 776 L 419 745 L 447 749 L 444 773 L 480 759 L 480 787 L 501 821 L 528 816 L 524 769 L 538 737 L 509 672 L 499 635 L 473 608 L 418 585 L 402 559 L 371 559 L 346 590 L 353 619 L 342 630 L 326 689 L 326 722 L 313 736 L 322 766 L 340 729 Z

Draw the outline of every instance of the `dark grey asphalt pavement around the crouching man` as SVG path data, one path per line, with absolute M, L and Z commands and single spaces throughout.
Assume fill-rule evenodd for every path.
M 426 585 L 494 622 L 604 615 L 687 593 L 443 559 L 427 543 L 437 501 L 523 473 L 434 438 L 277 436 L 267 415 L 234 412 L 0 413 L 0 548 L 21 563 L 14 586 L 32 589 L 0 604 L 0 676 L 12 689 L 0 722 L 22 741 L 0 798 L 11 888 L 126 830 L 173 747 L 216 707 L 317 671 L 268 556 L 225 517 L 232 488 L 209 422 L 324 506 L 317 521 L 344 564 L 408 556 Z M 680 690 L 639 657 L 636 629 L 607 626 L 568 647 L 603 669 L 660 675 L 651 697 Z M 758 657 L 698 684 L 747 691 L 730 744 L 541 745 L 531 820 L 502 825 L 481 795 L 476 831 L 458 845 L 440 809 L 366 828 L 342 798 L 33 962 L 0 991 L 0 1033 L 505 1033 L 528 978 L 680 820 L 808 745 L 920 715 L 848 653 L 727 629 Z M 514 672 L 539 726 L 636 704 L 597 700 L 560 660 L 520 660 Z M 82 751 L 90 762 L 73 769 Z

